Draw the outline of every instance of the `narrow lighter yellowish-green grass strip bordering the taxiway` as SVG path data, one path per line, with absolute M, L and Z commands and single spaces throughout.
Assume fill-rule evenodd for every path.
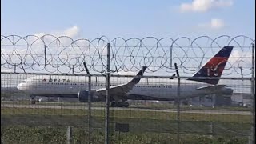
M 88 110 L 79 109 L 48 109 L 48 108 L 6 108 L 1 107 L 1 114 L 26 114 L 26 115 L 87 115 Z M 104 117 L 105 110 L 92 110 L 93 117 Z M 138 118 L 138 119 L 165 119 L 175 120 L 175 112 L 139 111 L 139 110 L 110 110 L 111 118 Z M 181 113 L 182 121 L 211 121 L 211 122 L 242 122 L 250 123 L 250 115 L 234 114 L 189 114 Z

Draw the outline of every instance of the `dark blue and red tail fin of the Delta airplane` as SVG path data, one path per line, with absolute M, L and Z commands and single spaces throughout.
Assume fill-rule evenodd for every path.
M 222 50 L 218 52 L 218 54 L 214 55 L 213 58 L 210 59 L 209 62 L 206 63 L 205 66 L 194 74 L 194 78 L 197 77 L 221 77 L 222 72 L 226 66 L 226 62 L 230 57 L 231 51 L 233 50 L 233 46 L 224 46 Z M 209 84 L 216 85 L 218 84 L 219 79 L 193 79 L 190 78 L 189 80 L 198 81 L 198 82 L 205 82 Z

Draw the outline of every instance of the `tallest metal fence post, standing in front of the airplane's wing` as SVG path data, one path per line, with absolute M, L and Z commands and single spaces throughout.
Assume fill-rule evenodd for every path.
M 107 43 L 106 54 L 106 113 L 105 113 L 105 144 L 109 144 L 109 117 L 110 117 L 110 43 Z

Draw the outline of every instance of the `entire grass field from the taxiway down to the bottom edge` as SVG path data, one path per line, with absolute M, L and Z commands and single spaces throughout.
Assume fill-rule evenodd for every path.
M 104 109 L 91 111 L 92 143 L 104 143 L 104 116 Z M 176 116 L 176 112 L 110 110 L 110 141 L 176 143 L 179 132 L 181 143 L 247 143 L 250 135 L 250 115 L 182 112 L 181 122 Z M 116 131 L 116 123 L 129 124 L 129 132 Z M 88 110 L 83 109 L 1 107 L 1 125 L 6 143 L 65 143 L 66 126 L 73 127 L 71 143 L 88 141 Z

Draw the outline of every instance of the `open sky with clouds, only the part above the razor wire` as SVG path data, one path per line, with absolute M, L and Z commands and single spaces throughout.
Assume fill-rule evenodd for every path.
M 2 0 L 1 34 L 255 38 L 254 0 Z

